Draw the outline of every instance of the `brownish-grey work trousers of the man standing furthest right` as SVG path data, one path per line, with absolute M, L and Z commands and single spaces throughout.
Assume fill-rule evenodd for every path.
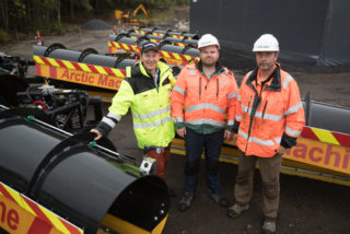
M 246 156 L 240 151 L 238 173 L 234 187 L 236 203 L 247 204 L 253 195 L 253 177 L 256 162 L 262 180 L 262 211 L 266 219 L 276 220 L 280 201 L 280 169 L 282 154 L 272 157 Z

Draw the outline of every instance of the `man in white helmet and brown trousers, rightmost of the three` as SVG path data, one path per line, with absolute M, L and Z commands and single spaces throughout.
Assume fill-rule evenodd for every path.
M 258 162 L 262 180 L 262 231 L 276 233 L 282 154 L 296 144 L 305 117 L 296 81 L 277 63 L 279 43 L 276 37 L 261 35 L 253 51 L 256 52 L 257 69 L 244 77 L 237 95 L 236 201 L 228 215 L 235 218 L 249 209 L 253 174 Z

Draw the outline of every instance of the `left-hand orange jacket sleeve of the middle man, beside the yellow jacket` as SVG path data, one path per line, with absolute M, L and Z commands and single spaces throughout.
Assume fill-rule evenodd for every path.
M 184 110 L 183 105 L 185 104 L 185 95 L 186 95 L 186 75 L 185 69 L 180 71 L 177 77 L 177 81 L 173 87 L 172 96 L 171 96 L 171 105 L 172 105 L 172 117 L 175 122 L 176 129 L 182 129 L 185 127 L 184 124 Z

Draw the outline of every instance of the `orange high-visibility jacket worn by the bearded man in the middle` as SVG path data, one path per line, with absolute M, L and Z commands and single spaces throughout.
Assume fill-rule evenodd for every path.
M 175 127 L 179 129 L 186 126 L 199 133 L 212 133 L 225 127 L 232 131 L 236 94 L 237 84 L 233 73 L 219 63 L 210 79 L 201 71 L 200 63 L 186 66 L 172 92 Z M 228 124 L 224 121 L 225 115 Z

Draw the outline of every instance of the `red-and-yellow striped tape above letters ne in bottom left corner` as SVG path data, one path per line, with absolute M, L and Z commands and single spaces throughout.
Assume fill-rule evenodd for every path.
M 26 196 L 15 191 L 14 189 L 10 188 L 3 183 L 0 183 L 0 195 L 4 196 L 9 200 L 13 201 L 15 204 L 20 206 L 22 209 L 27 211 L 28 213 L 36 217 L 34 222 L 32 223 L 28 233 L 33 233 L 36 230 L 36 221 L 40 220 L 48 224 L 49 226 L 55 226 L 61 233 L 67 234 L 82 234 L 83 231 L 78 226 L 73 225 L 72 223 L 63 220 L 59 215 L 55 214 L 50 210 L 44 208 L 43 206 L 36 203 L 32 199 L 27 198 Z M 37 225 L 42 226 L 42 225 Z M 37 231 L 37 230 L 36 230 Z M 46 232 L 47 231 L 47 232 Z M 49 233 L 51 227 L 47 230 L 40 230 L 40 233 Z M 37 233 L 37 232 L 36 232 Z

